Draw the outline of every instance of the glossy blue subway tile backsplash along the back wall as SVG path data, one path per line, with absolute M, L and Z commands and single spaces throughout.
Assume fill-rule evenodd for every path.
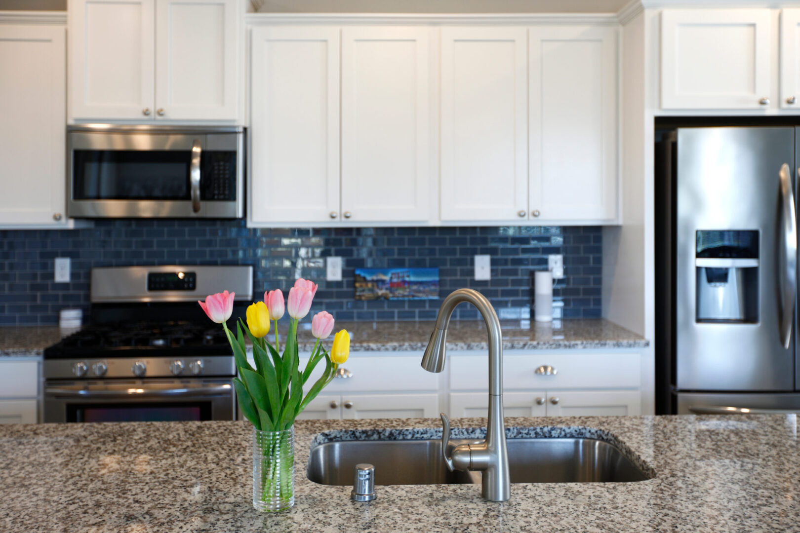
M 438 300 L 354 300 L 355 268 L 438 267 L 440 296 L 471 287 L 501 318 L 526 318 L 530 272 L 563 253 L 554 290 L 566 317 L 601 312 L 600 227 L 248 229 L 244 221 L 101 220 L 88 229 L 0 230 L 0 325 L 58 324 L 62 308 L 88 308 L 90 269 L 111 265 L 253 265 L 255 288 L 286 291 L 297 277 L 319 284 L 314 311 L 339 320 L 433 319 Z M 473 256 L 489 254 L 490 281 L 473 279 Z M 342 281 L 325 280 L 325 258 L 343 258 Z M 72 259 L 70 283 L 54 281 L 54 258 Z M 458 307 L 455 319 L 477 312 Z

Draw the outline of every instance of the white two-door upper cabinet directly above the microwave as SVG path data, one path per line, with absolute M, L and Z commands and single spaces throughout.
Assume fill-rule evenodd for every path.
M 240 0 L 69 5 L 73 120 L 237 120 Z

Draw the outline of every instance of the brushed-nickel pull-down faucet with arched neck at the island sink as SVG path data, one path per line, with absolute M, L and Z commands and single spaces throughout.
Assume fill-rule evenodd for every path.
M 500 320 L 492 304 L 480 292 L 459 288 L 442 301 L 436 316 L 436 327 L 430 334 L 428 347 L 422 356 L 422 368 L 428 372 L 442 372 L 445 368 L 445 340 L 450 315 L 456 305 L 469 302 L 478 308 L 489 331 L 489 420 L 486 440 L 478 444 L 459 444 L 447 456 L 450 440 L 450 419 L 442 413 L 442 455 L 450 471 L 482 471 L 481 495 L 493 502 L 505 502 L 511 496 L 506 450 L 506 425 L 502 415 L 502 334 Z

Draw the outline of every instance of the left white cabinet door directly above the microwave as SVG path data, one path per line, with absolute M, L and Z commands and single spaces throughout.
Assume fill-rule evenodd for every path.
M 154 0 L 70 0 L 70 117 L 154 117 Z

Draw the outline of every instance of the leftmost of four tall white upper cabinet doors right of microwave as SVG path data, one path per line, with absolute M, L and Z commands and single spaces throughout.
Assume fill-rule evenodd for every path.
M 337 219 L 339 30 L 259 27 L 251 46 L 251 220 Z

